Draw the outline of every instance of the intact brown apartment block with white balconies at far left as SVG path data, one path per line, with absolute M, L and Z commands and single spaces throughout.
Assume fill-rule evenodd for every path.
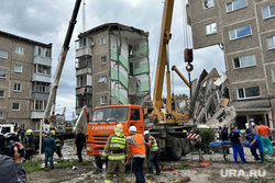
M 0 31 L 0 123 L 37 128 L 50 94 L 52 44 Z

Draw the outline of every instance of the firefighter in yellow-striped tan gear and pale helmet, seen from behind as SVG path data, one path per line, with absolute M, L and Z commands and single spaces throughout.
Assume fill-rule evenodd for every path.
M 123 135 L 123 125 L 118 124 L 114 128 L 113 135 L 109 136 L 101 157 L 103 163 L 106 162 L 106 159 L 108 157 L 108 167 L 105 183 L 111 183 L 113 174 L 117 174 L 119 183 L 124 182 L 124 160 L 127 156 L 128 144 L 127 138 Z

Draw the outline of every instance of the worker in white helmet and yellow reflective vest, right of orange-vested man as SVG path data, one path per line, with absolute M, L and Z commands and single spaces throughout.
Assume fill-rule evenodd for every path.
M 160 165 L 158 165 L 158 147 L 157 147 L 157 142 L 155 140 L 155 138 L 150 135 L 148 130 L 144 131 L 144 138 L 145 138 L 145 145 L 148 147 L 148 160 L 147 160 L 147 164 L 148 164 L 148 173 L 153 173 L 153 164 L 155 165 L 155 171 L 156 171 L 156 175 L 161 174 L 161 170 L 160 170 Z

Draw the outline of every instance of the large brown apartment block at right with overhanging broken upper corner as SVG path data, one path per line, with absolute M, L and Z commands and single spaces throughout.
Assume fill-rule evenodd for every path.
M 275 116 L 275 0 L 189 0 L 194 48 L 219 45 L 237 124 Z

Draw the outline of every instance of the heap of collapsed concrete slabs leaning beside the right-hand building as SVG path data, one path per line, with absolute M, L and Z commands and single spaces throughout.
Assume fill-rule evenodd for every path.
M 198 128 L 219 128 L 234 122 L 235 108 L 230 105 L 227 88 L 228 76 L 219 76 L 216 69 L 204 70 L 199 79 L 191 82 L 191 122 Z

